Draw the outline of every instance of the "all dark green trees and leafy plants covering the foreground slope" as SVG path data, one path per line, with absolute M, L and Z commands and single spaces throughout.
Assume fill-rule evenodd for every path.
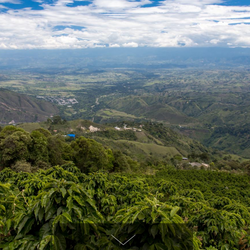
M 159 143 L 178 142 L 160 124 L 144 130 Z M 133 139 L 131 132 L 121 136 Z M 189 157 L 211 160 L 210 152 Z M 90 138 L 65 141 L 15 126 L 0 132 L 0 161 L 0 249 L 122 249 L 111 235 L 121 242 L 136 235 L 124 249 L 250 247 L 250 179 L 243 172 L 178 170 L 180 155 L 137 162 Z

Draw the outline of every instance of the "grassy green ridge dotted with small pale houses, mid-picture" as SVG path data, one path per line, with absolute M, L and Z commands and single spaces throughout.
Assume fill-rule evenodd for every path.
M 124 129 L 124 126 L 126 129 Z M 169 127 L 152 122 L 117 122 L 109 124 L 96 124 L 87 120 L 24 123 L 18 125 L 28 132 L 35 129 L 48 129 L 52 135 L 75 134 L 76 138 L 84 136 L 94 139 L 103 146 L 112 150 L 121 151 L 132 159 L 143 162 L 150 160 L 169 161 L 176 155 L 188 157 L 193 155 L 193 160 L 202 162 L 218 162 L 228 154 L 205 147 L 199 141 L 193 140 L 181 133 L 175 132 Z M 115 129 L 119 128 L 120 130 Z M 91 129 L 90 129 L 91 128 Z M 96 130 L 93 132 L 93 130 Z M 69 138 L 66 137 L 67 140 Z M 200 158 L 201 155 L 205 157 Z M 240 162 L 237 155 L 231 155 L 232 159 Z

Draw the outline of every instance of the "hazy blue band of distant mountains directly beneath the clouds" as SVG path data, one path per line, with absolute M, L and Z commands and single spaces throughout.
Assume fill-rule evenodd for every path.
M 249 55 L 247 48 L 221 47 L 0 50 L 0 68 L 43 73 L 76 68 L 248 68 Z

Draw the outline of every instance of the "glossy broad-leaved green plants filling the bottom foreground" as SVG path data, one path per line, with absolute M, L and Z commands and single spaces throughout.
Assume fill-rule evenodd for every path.
M 133 249 L 250 247 L 247 176 L 170 167 L 85 175 L 64 164 L 34 174 L 5 168 L 0 181 L 4 250 L 121 249 L 111 234 L 122 242 L 136 234 Z

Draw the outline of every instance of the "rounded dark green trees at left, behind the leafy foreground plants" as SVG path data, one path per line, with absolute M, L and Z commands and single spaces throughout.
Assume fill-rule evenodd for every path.
M 108 171 L 115 167 L 119 169 L 128 164 L 127 159 L 132 162 L 129 157 L 121 157 L 119 152 L 113 153 L 92 139 L 79 137 L 66 143 L 64 137 L 52 136 L 43 128 L 28 133 L 15 126 L 6 126 L 0 132 L 1 168 L 33 172 L 37 168 L 73 161 L 82 172 L 88 173 L 100 168 Z

